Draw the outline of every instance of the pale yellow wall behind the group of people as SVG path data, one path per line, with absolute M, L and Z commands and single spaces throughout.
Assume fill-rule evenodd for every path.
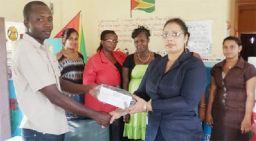
M 88 55 L 96 52 L 100 39 L 98 37 L 98 20 L 114 19 L 118 17 L 130 18 L 130 0 L 43 0 L 47 5 L 54 4 L 54 29 L 55 36 L 63 26 L 82 11 L 82 23 L 84 28 L 84 40 Z M 0 17 L 6 21 L 23 21 L 23 7 L 27 0 L 1 0 Z M 231 23 L 230 34 L 233 34 L 234 22 L 233 0 L 156 0 L 156 11 L 145 13 L 144 11 L 132 11 L 132 18 L 137 17 L 181 17 L 184 21 L 211 20 L 212 24 L 212 53 L 211 57 L 222 57 L 221 44 L 226 36 L 226 23 Z M 164 26 L 164 25 L 163 25 Z M 130 38 L 130 37 L 129 37 Z M 122 42 L 117 48 L 129 48 L 134 52 L 134 44 Z M 160 38 L 151 38 L 150 49 L 162 49 Z

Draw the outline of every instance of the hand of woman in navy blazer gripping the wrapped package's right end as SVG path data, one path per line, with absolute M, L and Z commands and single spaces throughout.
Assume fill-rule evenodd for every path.
M 144 101 L 144 99 L 138 97 L 137 95 L 132 95 L 132 97 L 136 99 L 136 103 L 132 107 L 128 108 L 129 114 L 146 112 L 146 109 L 144 107 L 146 107 L 147 102 Z

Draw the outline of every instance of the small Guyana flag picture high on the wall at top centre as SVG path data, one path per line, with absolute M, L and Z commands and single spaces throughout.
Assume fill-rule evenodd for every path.
M 155 11 L 155 0 L 131 0 L 131 11 L 132 10 L 152 13 Z

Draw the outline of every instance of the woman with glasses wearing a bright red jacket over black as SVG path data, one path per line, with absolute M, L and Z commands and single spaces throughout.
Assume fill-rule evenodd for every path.
M 120 87 L 122 85 L 122 64 L 126 59 L 126 54 L 114 51 L 118 43 L 118 36 L 114 31 L 102 31 L 100 40 L 97 53 L 88 60 L 84 68 L 83 84 L 93 85 L 104 83 L 113 87 Z M 101 103 L 91 95 L 85 95 L 84 105 L 96 111 L 111 112 L 116 110 L 116 107 Z M 114 135 L 110 136 L 111 140 L 122 140 L 122 130 L 120 129 L 123 129 L 123 127 L 120 126 L 124 126 L 122 120 L 116 120 L 116 122 L 110 126 L 112 131 L 112 133 L 110 131 L 110 134 Z M 98 140 L 98 135 L 95 139 Z M 107 138 L 105 138 L 105 140 L 107 140 Z

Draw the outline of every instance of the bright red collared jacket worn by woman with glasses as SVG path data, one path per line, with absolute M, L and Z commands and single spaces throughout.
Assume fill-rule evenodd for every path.
M 116 61 L 122 66 L 124 60 L 126 58 L 126 54 L 122 52 L 113 51 L 112 55 L 116 59 Z M 120 73 L 118 69 L 106 58 L 104 52 L 101 50 L 100 52 L 94 54 L 86 63 L 84 68 L 83 75 L 83 84 L 84 85 L 94 85 L 104 83 L 106 85 L 110 85 L 116 87 L 116 85 L 120 85 Z M 110 112 L 114 111 L 117 108 L 104 104 L 90 94 L 86 94 L 84 97 L 84 105 L 96 111 L 105 111 Z

